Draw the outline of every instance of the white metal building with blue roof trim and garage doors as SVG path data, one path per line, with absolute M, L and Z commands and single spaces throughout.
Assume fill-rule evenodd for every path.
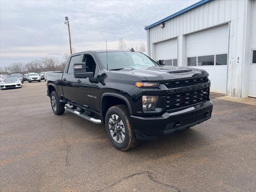
M 201 0 L 145 30 L 151 58 L 205 69 L 212 92 L 256 97 L 256 0 Z

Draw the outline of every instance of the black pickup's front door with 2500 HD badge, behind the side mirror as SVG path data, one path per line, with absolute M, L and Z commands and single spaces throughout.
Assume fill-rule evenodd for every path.
M 98 75 L 99 68 L 93 55 L 84 54 L 82 62 L 86 63 L 86 72 L 94 72 L 95 77 Z M 90 82 L 90 79 L 92 78 L 78 79 L 77 100 L 80 106 L 99 112 L 97 109 L 99 87 L 98 84 Z

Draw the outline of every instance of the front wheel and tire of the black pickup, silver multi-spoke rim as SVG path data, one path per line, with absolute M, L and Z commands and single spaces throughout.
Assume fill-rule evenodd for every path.
M 117 126 L 114 126 L 115 123 Z M 138 139 L 134 134 L 130 114 L 125 105 L 110 107 L 106 113 L 105 124 L 108 137 L 118 150 L 127 151 L 136 147 Z

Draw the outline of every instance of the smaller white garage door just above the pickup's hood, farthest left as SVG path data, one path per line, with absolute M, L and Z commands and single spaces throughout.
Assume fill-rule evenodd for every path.
M 177 66 L 178 44 L 177 38 L 155 44 L 156 61 L 165 60 L 166 65 Z

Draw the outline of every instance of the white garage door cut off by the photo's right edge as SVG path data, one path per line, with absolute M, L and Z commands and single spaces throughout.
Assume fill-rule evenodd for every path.
M 253 1 L 252 23 L 256 23 L 256 1 Z M 252 62 L 250 63 L 249 93 L 256 97 L 256 25 L 252 25 Z

